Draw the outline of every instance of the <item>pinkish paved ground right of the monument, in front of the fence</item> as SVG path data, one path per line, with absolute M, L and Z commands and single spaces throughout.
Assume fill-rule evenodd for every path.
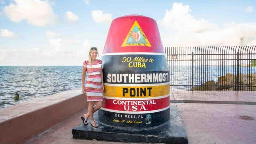
M 175 91 L 172 100 L 256 102 L 249 91 Z M 179 108 L 191 144 L 256 143 L 256 105 L 173 103 Z M 242 119 L 250 116 L 254 120 Z

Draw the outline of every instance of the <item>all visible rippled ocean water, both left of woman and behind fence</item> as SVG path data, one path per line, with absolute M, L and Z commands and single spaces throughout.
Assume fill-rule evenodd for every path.
M 191 84 L 192 72 L 187 66 L 172 66 L 172 85 Z M 255 73 L 256 67 L 239 67 L 239 73 Z M 234 66 L 195 66 L 194 85 L 209 80 L 218 81 L 219 76 L 236 73 Z M 0 108 L 55 93 L 81 88 L 82 66 L 0 66 Z M 189 90 L 188 86 L 177 86 L 174 90 Z M 14 100 L 14 94 L 20 94 Z

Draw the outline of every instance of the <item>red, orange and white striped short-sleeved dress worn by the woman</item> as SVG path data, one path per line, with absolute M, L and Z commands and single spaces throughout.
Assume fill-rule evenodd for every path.
M 98 60 L 96 64 L 92 64 L 92 67 L 88 61 L 84 61 L 83 66 L 88 75 L 85 83 L 87 101 L 103 101 L 101 90 L 102 61 Z

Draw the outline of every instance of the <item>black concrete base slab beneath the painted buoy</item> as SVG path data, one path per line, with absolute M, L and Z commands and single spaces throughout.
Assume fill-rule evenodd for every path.
M 98 122 L 98 112 L 94 113 L 94 119 Z M 73 128 L 73 138 L 115 142 L 188 143 L 187 134 L 177 107 L 170 107 L 170 120 L 168 122 L 143 130 L 137 128 L 129 131 L 127 129 L 106 126 L 99 122 L 99 127 L 93 128 L 90 125 L 90 118 L 87 122 L 88 125 L 80 123 L 77 127 Z

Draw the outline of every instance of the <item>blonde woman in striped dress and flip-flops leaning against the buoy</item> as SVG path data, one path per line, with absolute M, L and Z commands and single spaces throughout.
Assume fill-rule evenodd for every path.
M 103 87 L 103 73 L 102 73 L 102 61 L 97 60 L 98 55 L 97 47 L 91 47 L 89 52 L 89 60 L 84 61 L 82 72 L 82 91 L 86 92 L 87 101 L 89 101 L 88 113 L 81 117 L 84 125 L 87 125 L 88 117 L 91 117 L 92 127 L 97 128 L 98 125 L 93 119 L 93 113 L 102 106 L 102 91 Z M 85 74 L 87 72 L 86 84 L 84 86 Z M 94 106 L 96 102 L 96 106 Z M 93 107 L 94 106 L 94 107 Z

